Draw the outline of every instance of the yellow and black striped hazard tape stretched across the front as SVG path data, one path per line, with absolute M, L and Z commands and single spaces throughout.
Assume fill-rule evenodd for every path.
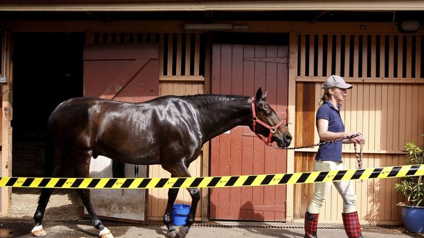
M 0 187 L 62 189 L 227 188 L 307 184 L 424 175 L 424 164 L 334 171 L 215 177 L 46 178 L 0 177 Z

